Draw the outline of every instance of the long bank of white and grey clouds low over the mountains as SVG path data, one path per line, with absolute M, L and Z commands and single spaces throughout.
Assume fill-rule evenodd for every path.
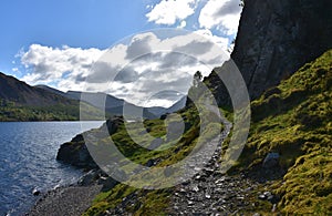
M 32 44 L 21 53 L 21 63 L 29 71 L 23 80 L 30 84 L 53 84 L 62 91 L 106 92 L 135 104 L 169 105 L 187 93 L 197 70 L 208 75 L 228 58 L 219 47 L 226 50 L 226 39 L 208 30 L 177 31 L 181 33 L 174 37 L 141 33 L 110 50 Z M 180 94 L 163 99 L 162 103 L 154 99 L 160 91 Z

